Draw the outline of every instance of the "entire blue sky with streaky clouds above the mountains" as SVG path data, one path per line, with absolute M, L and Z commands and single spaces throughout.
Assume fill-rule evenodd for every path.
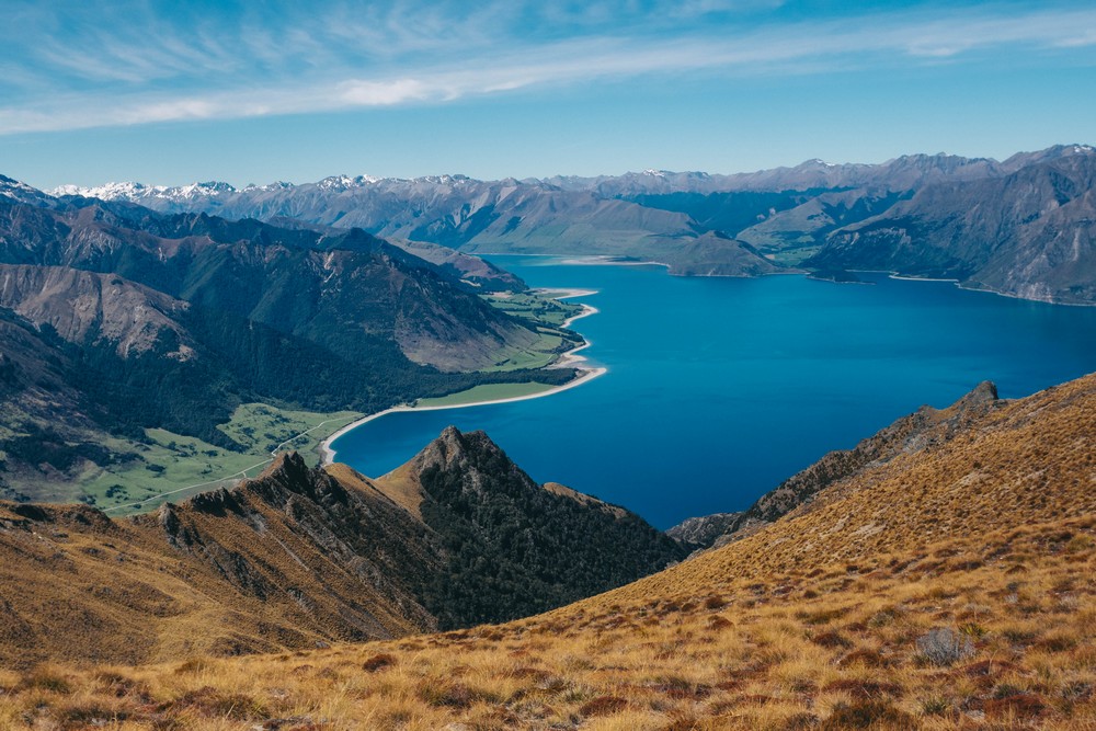
M 1092 2 L 0 0 L 33 185 L 737 172 L 1096 141 Z

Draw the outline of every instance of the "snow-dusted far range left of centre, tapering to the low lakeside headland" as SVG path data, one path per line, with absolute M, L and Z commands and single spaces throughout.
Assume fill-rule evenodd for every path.
M 128 201 L 163 213 L 359 227 L 386 239 L 426 241 L 472 253 L 638 256 L 666 263 L 682 274 L 756 275 L 777 270 L 749 245 L 704 230 L 685 214 L 544 181 L 340 175 L 306 185 L 274 183 L 242 190 L 226 183 L 182 187 L 119 183 L 65 186 L 55 193 Z M 695 243 L 701 245 L 689 251 Z

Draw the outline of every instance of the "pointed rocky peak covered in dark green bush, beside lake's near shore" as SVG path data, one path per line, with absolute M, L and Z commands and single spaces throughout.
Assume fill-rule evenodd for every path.
M 537 484 L 482 432 L 446 429 L 377 486 L 444 537 L 445 568 L 423 589 L 443 628 L 544 612 L 684 557 L 633 513 Z

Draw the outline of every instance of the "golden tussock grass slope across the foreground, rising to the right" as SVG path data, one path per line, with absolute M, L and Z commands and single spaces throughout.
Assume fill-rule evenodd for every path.
M 757 533 L 501 626 L 0 675 L 0 724 L 1096 728 L 1096 376 L 1008 402 Z

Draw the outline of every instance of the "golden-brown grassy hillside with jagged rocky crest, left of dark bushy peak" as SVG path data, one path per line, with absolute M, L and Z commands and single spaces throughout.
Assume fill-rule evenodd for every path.
M 0 665 L 141 663 L 429 629 L 399 583 L 432 566 L 424 534 L 380 493 L 296 455 L 135 519 L 3 503 Z

